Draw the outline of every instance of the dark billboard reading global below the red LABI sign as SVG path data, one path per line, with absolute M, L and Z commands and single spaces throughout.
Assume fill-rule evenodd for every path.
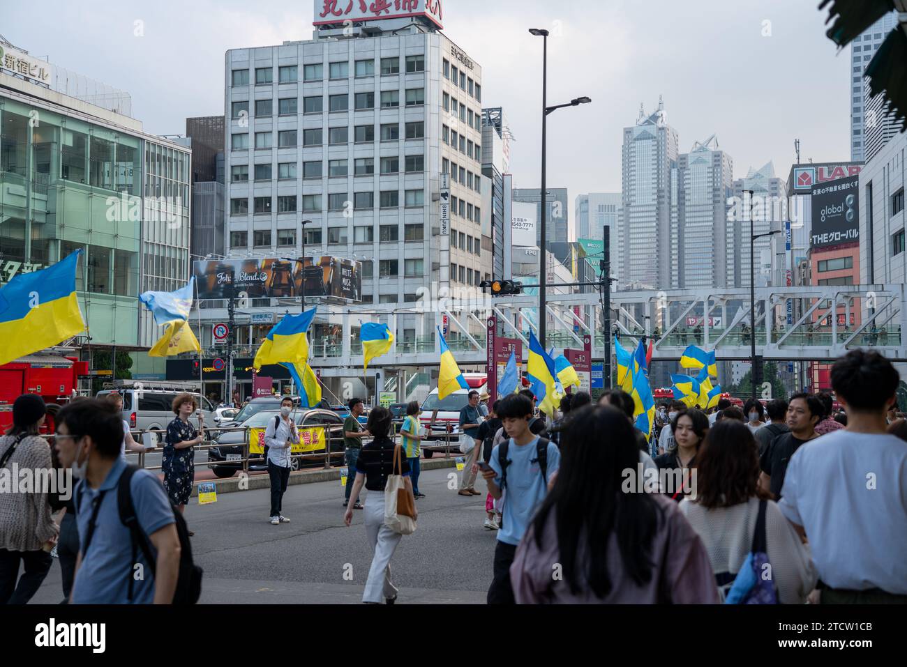
M 859 177 L 813 188 L 810 247 L 837 246 L 860 239 Z

